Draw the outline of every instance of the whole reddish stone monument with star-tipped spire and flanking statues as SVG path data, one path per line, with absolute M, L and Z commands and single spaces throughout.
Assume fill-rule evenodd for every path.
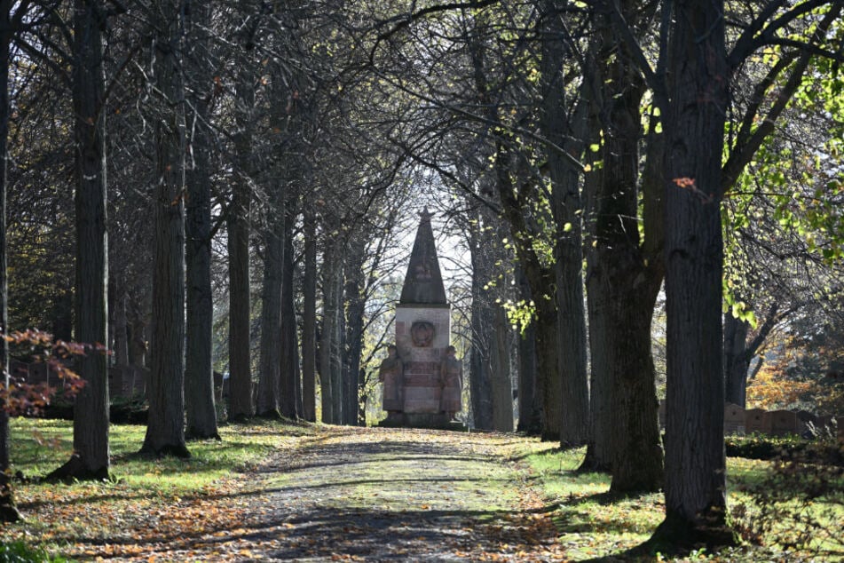
M 451 305 L 446 301 L 431 214 L 426 209 L 420 216 L 396 308 L 398 362 L 390 355 L 381 369 L 383 408 L 388 412 L 382 424 L 447 428 L 461 410 L 460 362 L 449 345 Z M 400 390 L 387 383 L 396 365 L 402 370 Z M 401 408 L 396 409 L 399 397 Z

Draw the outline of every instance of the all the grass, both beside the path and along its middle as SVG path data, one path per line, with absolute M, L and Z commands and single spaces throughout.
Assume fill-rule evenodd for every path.
M 613 498 L 608 495 L 607 475 L 574 472 L 584 456 L 582 449 L 559 451 L 536 440 L 512 437 L 498 440 L 493 447 L 467 435 L 463 439 L 469 440 L 471 455 L 439 457 L 432 462 L 428 459 L 430 451 L 442 453 L 449 448 L 447 435 L 434 433 L 427 441 L 417 437 L 415 449 L 405 451 L 387 448 L 377 435 L 360 429 L 326 430 L 314 425 L 255 421 L 248 425 L 222 426 L 222 441 L 189 442 L 192 457 L 179 460 L 137 456 L 145 432 L 144 426 L 112 426 L 114 480 L 70 485 L 16 483 L 15 496 L 28 521 L 0 528 L 0 547 L 23 542 L 52 556 L 107 559 L 115 554 L 131 555 L 131 549 L 142 555 L 155 551 L 156 546 L 178 544 L 185 535 L 208 538 L 225 530 L 236 531 L 242 526 L 241 517 L 248 513 L 249 504 L 265 493 L 262 487 L 281 488 L 291 479 L 286 473 L 273 473 L 263 483 L 253 483 L 243 480 L 244 472 L 279 450 L 292 452 L 297 448 L 298 454 L 307 456 L 310 448 L 327 446 L 348 448 L 350 463 L 356 464 L 358 472 L 355 481 L 344 477 L 342 472 L 330 474 L 331 480 L 343 481 L 339 483 L 340 493 L 326 500 L 332 507 L 371 507 L 373 498 L 377 497 L 378 503 L 389 505 L 390 510 L 458 509 L 488 512 L 490 520 L 508 510 L 506 507 L 514 503 L 514 495 L 521 496 L 524 492 L 508 476 L 505 465 L 496 460 L 525 460 L 532 469 L 532 481 L 528 484 L 542 495 L 537 497 L 535 506 L 538 511 L 550 514 L 556 527 L 556 544 L 572 560 L 606 557 L 635 547 L 647 540 L 663 519 L 661 494 Z M 70 456 L 71 436 L 71 424 L 67 422 L 12 420 L 13 470 L 28 478 L 50 472 Z M 367 448 L 374 455 L 366 461 L 356 460 L 355 452 Z M 416 464 L 420 463 L 436 463 L 438 472 L 443 474 L 436 496 L 427 494 L 423 483 L 415 489 L 410 486 L 416 477 Z M 745 513 L 751 519 L 759 519 L 759 506 L 754 504 L 755 497 L 747 489 L 770 488 L 772 466 L 768 461 L 730 457 L 730 506 L 745 505 Z M 325 471 L 336 470 L 327 466 Z M 449 480 L 448 476 L 454 474 L 464 478 Z M 777 507 L 778 512 L 769 511 L 769 520 L 774 525 L 769 528 L 768 536 L 761 537 L 762 543 L 768 543 L 767 547 L 743 546 L 718 554 L 701 551 L 674 560 L 809 558 L 809 551 L 784 551 L 786 546 L 777 545 L 775 537 L 785 537 L 782 533 L 796 529 L 790 518 L 798 508 L 802 511 L 801 518 L 808 511 L 812 519 L 832 529 L 832 535 L 825 539 L 817 534 L 816 544 L 811 547 L 825 550 L 824 556 L 816 560 L 834 560 L 836 556 L 830 553 L 841 545 L 840 537 L 835 535 L 840 525 L 836 525 L 844 521 L 844 504 L 841 504 L 844 482 L 840 477 L 837 479 L 832 481 L 832 490 L 838 487 L 838 493 L 833 492 L 832 497 L 800 502 L 796 496 L 800 489 L 795 488 L 795 496 L 786 495 L 785 504 Z M 781 489 L 791 494 L 792 483 L 793 480 L 786 480 Z M 291 484 L 295 485 L 292 481 Z M 495 490 L 499 496 L 491 501 L 485 495 L 481 501 L 481 496 L 475 498 L 479 490 Z M 483 502 L 483 506 L 477 502 Z M 420 503 L 426 504 L 417 505 Z M 737 520 L 737 524 L 746 527 L 747 522 Z M 554 528 L 549 528 L 549 537 L 553 538 Z M 189 549 L 185 547 L 185 557 L 180 559 L 191 559 Z

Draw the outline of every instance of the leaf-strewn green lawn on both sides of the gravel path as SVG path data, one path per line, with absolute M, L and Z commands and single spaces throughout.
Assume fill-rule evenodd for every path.
M 64 463 L 71 454 L 71 426 L 64 421 L 13 419 L 13 470 L 37 478 Z M 136 455 L 146 432 L 144 426 L 112 426 L 114 479 L 71 485 L 17 482 L 15 496 L 28 522 L 0 528 L 0 545 L 22 541 L 51 553 L 107 558 L 126 556 L 131 549 L 142 555 L 154 543 L 177 541 L 186 533 L 237 527 L 248 509 L 244 498 L 260 494 L 261 487 L 243 481 L 245 470 L 256 467 L 273 452 L 293 451 L 304 440 L 323 432 L 334 440 L 343 440 L 331 427 L 313 424 L 255 422 L 224 425 L 220 431 L 222 441 L 189 442 L 190 459 L 158 459 Z M 544 498 L 556 525 L 557 542 L 573 560 L 603 557 L 643 543 L 663 518 L 661 494 L 612 498 L 607 494 L 607 475 L 574 472 L 584 456 L 583 449 L 558 451 L 547 443 L 515 436 L 508 444 L 490 456 L 526 461 L 532 486 Z M 844 559 L 840 534 L 844 480 L 840 468 L 833 468 L 837 473 L 804 468 L 799 475 L 785 472 L 780 480 L 770 480 L 772 466 L 766 461 L 728 459 L 733 523 L 745 537 L 755 535 L 763 546 L 745 545 L 718 554 L 700 551 L 685 559 L 663 559 Z M 498 486 L 494 477 L 487 487 Z M 284 480 L 285 476 L 273 479 Z M 804 497 L 806 490 L 822 490 L 824 479 L 831 479 L 826 483 L 825 496 Z M 282 483 L 273 481 L 273 485 Z M 755 496 L 749 488 L 757 489 Z M 756 499 L 766 491 L 782 494 L 785 502 L 771 500 L 762 518 Z M 788 545 L 795 538 L 801 539 L 797 534 L 806 526 L 812 526 L 808 547 L 794 549 Z M 120 551 L 110 553 L 109 544 L 120 545 Z M 96 551 L 91 546 L 97 546 Z M 6 560 L 2 555 L 0 561 Z

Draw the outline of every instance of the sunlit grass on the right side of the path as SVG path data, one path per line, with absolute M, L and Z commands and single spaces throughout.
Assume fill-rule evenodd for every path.
M 613 498 L 608 495 L 609 475 L 575 472 L 583 456 L 584 450 L 581 448 L 567 451 L 548 450 L 527 457 L 535 479 L 539 481 L 540 488 L 551 503 L 552 519 L 560 533 L 559 541 L 564 543 L 567 554 L 572 560 L 606 557 L 646 541 L 664 517 L 662 494 Z M 758 514 L 758 505 L 745 489 L 764 486 L 772 463 L 730 457 L 727 465 L 728 505 L 744 505 Z M 809 504 L 809 510 L 812 511 L 813 518 L 824 521 L 834 529 L 836 520 L 844 521 L 844 508 L 839 503 L 840 498 L 824 498 L 815 504 Z M 796 514 L 793 516 L 798 518 Z M 780 529 L 788 529 L 797 527 L 798 523 L 786 520 L 778 522 L 777 526 Z M 840 542 L 836 544 L 835 538 L 827 542 L 819 541 L 810 546 L 811 551 L 787 552 L 784 551 L 786 546 L 778 545 L 776 541 L 766 542 L 766 539 L 771 538 L 762 538 L 762 543 L 767 545 L 743 545 L 715 554 L 698 551 L 684 559 L 676 560 L 791 561 L 809 560 L 817 553 L 823 553 L 824 555 L 820 556 L 822 559 L 812 560 L 825 561 L 834 560 L 840 555 L 840 551 L 837 555 L 834 552 L 840 549 Z M 661 556 L 658 559 L 661 559 Z

